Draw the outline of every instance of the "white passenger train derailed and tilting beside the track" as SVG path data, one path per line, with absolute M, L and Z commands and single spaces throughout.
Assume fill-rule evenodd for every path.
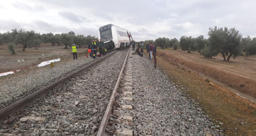
M 108 24 L 99 28 L 99 39 L 105 43 L 108 52 L 117 48 L 124 49 L 132 41 L 131 33 L 113 24 Z

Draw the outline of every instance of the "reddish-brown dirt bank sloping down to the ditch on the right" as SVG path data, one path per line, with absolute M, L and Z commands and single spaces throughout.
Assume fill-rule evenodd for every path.
M 213 79 L 220 81 L 223 84 L 226 84 L 240 92 L 243 92 L 245 94 L 252 96 L 253 98 L 256 98 L 256 81 L 251 78 L 247 78 L 234 72 L 221 70 L 220 68 L 214 67 L 214 65 L 189 61 L 185 58 L 177 57 L 177 55 L 175 54 L 166 53 L 164 51 L 157 52 L 158 56 L 163 57 L 166 60 L 183 65 L 184 67 L 193 69 L 196 72 L 212 77 Z

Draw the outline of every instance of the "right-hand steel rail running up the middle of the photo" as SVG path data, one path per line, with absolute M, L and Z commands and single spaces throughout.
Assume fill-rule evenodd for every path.
M 108 107 L 107 107 L 107 109 L 105 111 L 105 114 L 104 114 L 104 116 L 102 118 L 102 121 L 100 123 L 100 128 L 99 128 L 99 130 L 97 132 L 97 136 L 108 136 L 108 134 L 105 133 L 105 130 L 106 130 L 106 127 L 108 125 L 108 119 L 109 119 L 109 116 L 110 116 L 111 111 L 112 111 L 112 107 L 113 107 L 113 103 L 115 101 L 115 97 L 117 96 L 117 89 L 118 89 L 118 86 L 120 84 L 120 80 L 121 80 L 122 75 L 123 75 L 125 63 L 126 63 L 128 55 L 129 55 L 130 49 L 131 49 L 131 46 L 129 48 L 129 51 L 127 52 L 127 55 L 126 55 L 125 60 L 124 60 L 123 67 L 121 68 L 120 74 L 119 74 L 119 76 L 117 78 L 115 88 L 114 88 L 114 90 L 112 92 L 112 95 L 110 97 L 110 100 L 108 102 Z

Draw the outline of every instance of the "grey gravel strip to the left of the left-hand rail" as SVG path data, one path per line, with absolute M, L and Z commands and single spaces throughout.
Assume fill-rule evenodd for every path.
M 46 65 L 21 71 L 11 76 L 0 77 L 0 109 L 99 59 L 98 57 L 96 58 L 78 56 L 76 60 L 54 62 L 53 68 L 50 68 L 50 65 Z

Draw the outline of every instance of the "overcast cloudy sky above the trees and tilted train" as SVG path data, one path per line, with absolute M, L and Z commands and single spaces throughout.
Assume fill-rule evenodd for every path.
M 236 27 L 256 36 L 255 0 L 5 0 L 0 3 L 0 32 L 25 28 L 36 32 L 98 36 L 114 24 L 136 41 L 204 35 L 209 27 Z

